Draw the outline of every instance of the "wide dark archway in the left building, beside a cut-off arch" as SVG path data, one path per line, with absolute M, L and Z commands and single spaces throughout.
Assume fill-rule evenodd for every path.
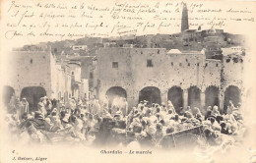
M 24 87 L 21 93 L 21 100 L 25 97 L 30 104 L 30 111 L 36 110 L 41 97 L 46 96 L 46 91 L 41 86 Z

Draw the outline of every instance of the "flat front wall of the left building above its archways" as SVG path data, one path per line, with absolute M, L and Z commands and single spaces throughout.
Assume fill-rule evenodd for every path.
M 51 54 L 42 51 L 16 51 L 12 53 L 14 59 L 15 82 L 13 87 L 16 94 L 27 86 L 41 86 L 51 95 Z

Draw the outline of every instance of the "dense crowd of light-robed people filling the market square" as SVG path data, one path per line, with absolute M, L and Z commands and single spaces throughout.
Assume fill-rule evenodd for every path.
M 208 106 L 204 112 L 190 106 L 176 111 L 171 101 L 158 104 L 144 100 L 129 108 L 123 97 L 116 97 L 111 103 L 81 98 L 64 103 L 45 96 L 35 110 L 30 110 L 26 98 L 12 99 L 8 108 L 6 122 L 13 138 L 26 139 L 28 143 L 72 141 L 89 146 L 121 144 L 170 149 L 177 146 L 175 134 L 191 129 L 197 131 L 192 141 L 203 140 L 208 145 L 220 145 L 224 137 L 243 137 L 246 131 L 242 106 L 234 107 L 232 101 L 222 114 L 218 106 Z

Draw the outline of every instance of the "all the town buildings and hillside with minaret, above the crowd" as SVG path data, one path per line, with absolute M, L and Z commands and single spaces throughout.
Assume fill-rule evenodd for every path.
M 36 107 L 39 97 L 111 100 L 125 97 L 130 106 L 141 100 L 172 101 L 175 109 L 242 101 L 245 38 L 223 29 L 189 29 L 184 5 L 181 32 L 127 37 L 81 38 L 26 45 L 7 63 L 5 103 L 27 97 Z M 50 46 L 49 46 L 50 45 Z M 51 48 L 52 47 L 52 48 Z M 246 52 L 246 55 L 249 53 Z M 221 56 L 221 57 L 215 57 Z

